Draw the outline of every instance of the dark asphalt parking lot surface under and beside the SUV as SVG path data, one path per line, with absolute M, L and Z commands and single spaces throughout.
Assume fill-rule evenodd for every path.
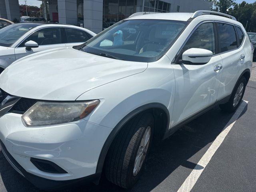
M 134 188 L 124 190 L 102 178 L 98 186 L 87 184 L 64 191 L 176 192 L 183 186 L 180 191 L 255 192 L 256 62 L 243 100 L 239 112 L 228 114 L 216 107 L 154 146 Z M 219 136 L 224 131 L 225 137 Z M 224 140 L 219 142 L 218 139 Z M 215 148 L 214 152 L 212 148 Z M 212 156 L 202 166 L 201 162 L 206 162 L 209 152 Z M 0 151 L 0 192 L 5 191 L 40 190 L 20 176 Z

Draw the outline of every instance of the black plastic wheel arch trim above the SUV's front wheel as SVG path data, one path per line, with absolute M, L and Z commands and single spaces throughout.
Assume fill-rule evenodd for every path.
M 126 115 L 112 130 L 108 138 L 106 139 L 102 150 L 100 152 L 100 156 L 98 158 L 98 164 L 96 167 L 96 173 L 101 173 L 104 167 L 104 162 L 106 155 L 108 153 L 108 150 L 110 148 L 110 145 L 112 144 L 114 138 L 118 134 L 118 132 L 122 129 L 122 127 L 130 121 L 132 118 L 134 118 L 136 115 L 146 112 L 146 111 L 151 111 L 153 113 L 153 116 L 155 118 L 155 124 L 158 124 L 159 122 L 162 123 L 160 126 L 160 130 L 156 133 L 155 137 L 156 139 L 161 139 L 164 136 L 164 133 L 166 130 L 168 130 L 169 123 L 170 123 L 170 114 L 168 112 L 168 109 L 166 106 L 160 103 L 150 103 L 150 104 L 145 104 L 143 106 L 140 106 L 130 112 L 128 115 Z

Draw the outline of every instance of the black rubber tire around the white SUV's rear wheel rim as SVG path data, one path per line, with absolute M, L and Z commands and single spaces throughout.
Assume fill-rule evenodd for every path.
M 243 90 L 242 90 L 242 96 L 240 98 L 240 100 L 238 101 L 238 104 L 236 104 L 236 106 L 233 105 L 233 102 L 234 102 L 234 97 L 236 95 L 236 91 L 238 90 L 240 84 L 243 83 Z M 247 84 L 247 81 L 246 81 L 246 78 L 244 76 L 242 76 L 240 78 L 240 80 L 238 81 L 238 83 L 236 84 L 231 96 L 230 96 L 230 99 L 228 102 L 224 103 L 224 104 L 220 104 L 220 108 L 224 111 L 227 111 L 227 112 L 234 112 L 238 106 L 240 105 L 241 101 L 242 101 L 242 98 L 244 96 L 244 91 L 245 91 L 245 87 L 246 87 L 246 84 Z

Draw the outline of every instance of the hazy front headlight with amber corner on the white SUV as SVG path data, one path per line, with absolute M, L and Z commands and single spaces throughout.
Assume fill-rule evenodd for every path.
M 22 115 L 26 126 L 45 126 L 76 121 L 87 116 L 99 100 L 87 102 L 38 101 Z

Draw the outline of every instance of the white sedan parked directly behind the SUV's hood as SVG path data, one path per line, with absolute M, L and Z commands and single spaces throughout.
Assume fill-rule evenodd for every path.
M 79 45 L 96 34 L 85 28 L 47 23 L 17 23 L 0 30 L 0 72 L 17 59 L 56 47 Z

